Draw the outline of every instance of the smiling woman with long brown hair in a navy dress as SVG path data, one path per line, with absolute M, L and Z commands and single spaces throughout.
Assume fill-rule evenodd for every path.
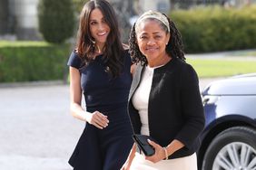
M 120 169 L 133 146 L 127 114 L 132 61 L 107 1 L 84 5 L 76 45 L 68 61 L 71 112 L 86 125 L 69 164 L 75 170 Z

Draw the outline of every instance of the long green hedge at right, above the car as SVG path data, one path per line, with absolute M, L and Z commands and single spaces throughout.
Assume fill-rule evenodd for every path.
M 185 52 L 219 52 L 256 48 L 256 5 L 178 10 L 170 14 L 182 33 Z

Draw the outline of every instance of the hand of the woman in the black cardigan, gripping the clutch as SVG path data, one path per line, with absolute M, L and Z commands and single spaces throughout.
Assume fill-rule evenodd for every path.
M 153 163 L 157 163 L 159 161 L 161 161 L 162 159 L 165 158 L 165 151 L 164 148 L 160 145 L 158 145 L 157 143 L 153 142 L 152 140 L 148 139 L 148 142 L 150 145 L 153 146 L 154 148 L 154 155 L 153 156 L 145 156 L 146 160 L 149 160 Z

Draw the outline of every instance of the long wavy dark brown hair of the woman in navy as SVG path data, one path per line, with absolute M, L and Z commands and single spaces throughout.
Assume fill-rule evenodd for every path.
M 113 7 L 107 1 L 93 0 L 84 5 L 80 14 L 76 51 L 78 52 L 78 56 L 84 61 L 85 66 L 94 59 L 94 38 L 90 32 L 89 20 L 90 14 L 95 8 L 101 10 L 106 23 L 110 27 L 110 33 L 107 36 L 103 48 L 103 57 L 106 61 L 106 71 L 113 77 L 116 77 L 120 74 L 123 64 L 123 45 L 120 39 L 116 14 L 114 13 Z

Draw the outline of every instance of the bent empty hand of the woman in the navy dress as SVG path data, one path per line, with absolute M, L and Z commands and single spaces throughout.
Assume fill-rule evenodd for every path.
M 107 127 L 109 123 L 107 116 L 103 115 L 99 111 L 94 111 L 94 113 L 87 113 L 85 119 L 88 123 L 100 129 Z

